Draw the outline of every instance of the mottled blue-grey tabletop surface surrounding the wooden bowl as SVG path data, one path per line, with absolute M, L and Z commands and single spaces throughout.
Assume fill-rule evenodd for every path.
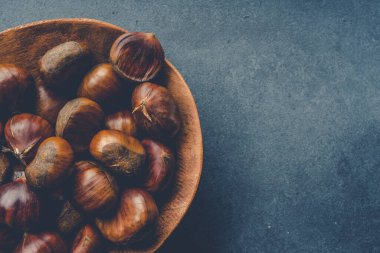
M 161 252 L 380 252 L 380 1 L 4 1 L 0 29 L 89 17 L 153 31 L 204 136 Z

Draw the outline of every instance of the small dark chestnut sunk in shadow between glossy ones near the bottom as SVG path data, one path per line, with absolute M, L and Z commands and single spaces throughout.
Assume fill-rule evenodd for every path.
M 83 214 L 70 201 L 65 201 L 57 218 L 57 229 L 63 234 L 73 232 L 81 225 L 83 219 Z

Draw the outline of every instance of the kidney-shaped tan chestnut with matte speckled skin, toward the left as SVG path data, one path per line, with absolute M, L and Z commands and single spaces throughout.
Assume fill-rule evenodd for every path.
M 28 184 L 37 189 L 57 186 L 71 174 L 73 161 L 74 152 L 65 139 L 46 139 L 25 169 Z

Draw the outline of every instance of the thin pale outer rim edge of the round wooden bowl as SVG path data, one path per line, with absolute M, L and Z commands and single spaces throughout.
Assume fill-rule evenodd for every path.
M 110 29 L 119 30 L 119 31 L 122 31 L 122 32 L 127 32 L 128 31 L 128 30 L 126 30 L 126 29 L 124 29 L 124 28 L 122 28 L 120 26 L 108 23 L 106 21 L 92 19 L 92 18 L 57 18 L 57 19 L 39 20 L 39 21 L 34 21 L 34 22 L 18 25 L 18 26 L 15 26 L 15 27 L 7 28 L 7 29 L 2 30 L 0 32 L 0 36 L 3 35 L 3 34 L 5 34 L 5 33 L 7 33 L 7 32 L 12 32 L 12 31 L 20 30 L 20 29 L 25 29 L 25 28 L 31 28 L 31 27 L 43 25 L 43 24 L 46 24 L 46 23 L 82 23 L 82 24 L 92 23 L 92 24 L 97 24 L 97 25 L 104 26 L 104 27 L 107 27 L 107 28 L 110 28 Z M 180 81 L 184 84 L 183 88 L 185 88 L 186 92 L 189 94 L 188 99 L 189 99 L 189 102 L 191 103 L 191 105 L 193 107 L 191 111 L 192 111 L 192 115 L 194 116 L 192 124 L 195 125 L 195 128 L 197 130 L 197 133 L 194 133 L 194 134 L 195 134 L 196 138 L 198 139 L 197 143 L 199 144 L 197 147 L 195 147 L 195 148 L 199 149 L 198 150 L 199 157 L 197 157 L 197 159 L 199 159 L 199 163 L 198 163 L 199 167 L 197 168 L 198 174 L 196 175 L 196 178 L 195 178 L 195 184 L 194 184 L 195 189 L 193 190 L 192 195 L 190 196 L 189 204 L 183 209 L 184 210 L 183 213 L 180 215 L 180 218 L 175 221 L 174 226 L 171 228 L 171 231 L 169 233 L 167 233 L 163 237 L 163 239 L 161 241 L 159 241 L 155 245 L 154 248 L 152 248 L 151 252 L 157 251 L 164 244 L 164 242 L 176 230 L 176 228 L 178 227 L 178 225 L 180 224 L 180 222 L 183 220 L 183 218 L 185 217 L 185 215 L 189 211 L 189 208 L 192 205 L 192 203 L 194 201 L 194 198 L 195 198 L 195 195 L 196 195 L 196 193 L 198 191 L 199 183 L 200 183 L 200 178 L 201 178 L 202 170 L 203 170 L 203 137 L 202 137 L 202 128 L 201 128 L 201 124 L 200 124 L 200 118 L 199 118 L 198 109 L 197 109 L 197 106 L 196 106 L 193 94 L 192 94 L 192 92 L 191 92 L 188 84 L 186 83 L 184 77 L 178 71 L 178 69 L 167 58 L 165 58 L 165 62 L 167 64 L 167 66 L 174 72 L 175 75 L 177 75 L 177 77 L 180 79 Z

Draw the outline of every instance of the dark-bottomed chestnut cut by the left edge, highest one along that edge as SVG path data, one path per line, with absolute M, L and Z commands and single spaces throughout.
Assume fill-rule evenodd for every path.
M 0 64 L 0 115 L 25 109 L 33 84 L 33 78 L 27 70 L 13 64 Z

